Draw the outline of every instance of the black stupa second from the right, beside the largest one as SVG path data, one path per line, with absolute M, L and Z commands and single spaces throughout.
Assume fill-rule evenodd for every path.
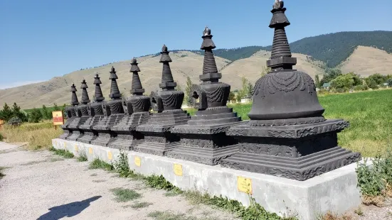
M 186 125 L 175 126 L 171 133 L 181 138 L 181 145 L 167 153 L 168 157 L 191 160 L 197 163 L 217 165 L 222 158 L 238 152 L 237 141 L 226 136 L 230 126 L 240 123 L 241 119 L 233 109 L 228 108 L 230 85 L 219 82 L 222 75 L 216 67 L 211 30 L 203 31 L 204 50 L 203 74 L 201 84 L 194 84 L 191 89 L 193 100 L 199 100 L 198 111 Z

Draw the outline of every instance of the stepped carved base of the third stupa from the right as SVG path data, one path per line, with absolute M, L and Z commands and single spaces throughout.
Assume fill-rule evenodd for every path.
M 144 142 L 134 146 L 133 150 L 163 156 L 177 146 L 179 146 L 179 136 L 173 133 L 145 133 Z

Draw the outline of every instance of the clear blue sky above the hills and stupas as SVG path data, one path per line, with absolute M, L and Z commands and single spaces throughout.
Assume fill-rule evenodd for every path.
M 169 50 L 270 45 L 273 0 L 0 0 L 0 89 Z M 392 1 L 287 0 L 290 42 L 339 31 L 392 31 Z

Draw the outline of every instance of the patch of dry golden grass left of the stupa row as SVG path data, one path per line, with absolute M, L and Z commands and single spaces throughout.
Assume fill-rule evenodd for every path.
M 4 141 L 8 143 L 27 142 L 29 150 L 49 149 L 52 146 L 52 139 L 58 138 L 63 129 L 55 130 L 52 122 L 23 123 L 14 127 L 4 125 L 0 133 L 4 136 Z

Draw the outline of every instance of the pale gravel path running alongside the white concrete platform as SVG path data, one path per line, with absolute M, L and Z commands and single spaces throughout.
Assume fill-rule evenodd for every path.
M 0 167 L 6 167 L 0 180 L 0 219 L 235 219 L 49 151 L 31 152 L 0 142 Z M 111 191 L 116 187 L 134 189 L 142 197 L 117 202 Z M 132 208 L 135 204 L 141 207 Z

